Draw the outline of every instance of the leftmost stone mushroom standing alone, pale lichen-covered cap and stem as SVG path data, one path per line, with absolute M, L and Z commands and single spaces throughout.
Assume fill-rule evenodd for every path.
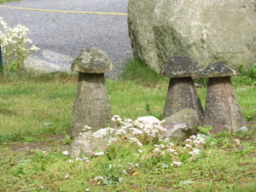
M 84 49 L 73 60 L 71 69 L 79 72 L 77 94 L 73 106 L 71 137 L 84 132 L 84 126 L 97 131 L 112 125 L 112 113 L 108 102 L 104 73 L 113 64 L 100 49 Z

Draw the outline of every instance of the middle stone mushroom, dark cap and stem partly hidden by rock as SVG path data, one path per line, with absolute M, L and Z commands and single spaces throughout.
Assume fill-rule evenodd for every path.
M 198 74 L 198 64 L 189 56 L 175 55 L 166 62 L 160 71 L 161 76 L 171 78 L 163 113 L 164 118 L 183 108 L 192 108 L 198 115 L 199 124 L 202 125 L 204 112 L 192 79 L 196 74 Z

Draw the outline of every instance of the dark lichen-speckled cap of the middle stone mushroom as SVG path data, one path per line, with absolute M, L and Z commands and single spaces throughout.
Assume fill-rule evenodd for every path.
M 160 71 L 160 76 L 168 78 L 194 77 L 196 74 L 198 74 L 198 63 L 185 55 L 172 56 Z

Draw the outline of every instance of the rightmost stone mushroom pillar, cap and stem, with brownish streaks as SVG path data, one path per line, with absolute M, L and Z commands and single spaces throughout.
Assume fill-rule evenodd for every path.
M 245 125 L 230 81 L 238 74 L 224 62 L 212 63 L 201 72 L 201 78 L 208 78 L 204 126 L 212 126 L 212 132 L 236 132 Z

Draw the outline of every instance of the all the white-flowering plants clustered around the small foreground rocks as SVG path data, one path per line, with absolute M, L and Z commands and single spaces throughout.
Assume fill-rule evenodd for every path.
M 202 137 L 191 136 L 184 141 L 183 146 L 176 146 L 170 143 L 169 138 L 162 140 L 160 136 L 166 131 L 166 128 L 161 125 L 163 121 L 151 116 L 138 118 L 134 121 L 131 119 L 123 121 L 119 115 L 114 115 L 112 120 L 115 128 L 105 128 L 91 133 L 90 127 L 86 125 L 83 130 L 86 132 L 81 134 L 90 134 L 93 137 L 108 137 L 108 145 L 116 148 L 117 145 L 113 145 L 113 143 L 118 143 L 119 145 L 136 143 L 139 148 L 142 148 L 145 144 L 154 144 L 153 152 L 149 157 L 154 157 L 155 161 L 166 160 L 167 162 L 172 162 L 172 166 L 181 166 L 186 161 L 196 160 L 201 148 L 204 148 L 205 140 Z M 110 135 L 113 137 L 109 137 Z M 124 146 L 127 147 L 127 145 Z M 116 154 L 114 149 L 113 151 L 113 154 Z M 143 154 L 147 152 L 147 149 L 139 149 L 137 152 Z M 119 153 L 121 153 L 120 150 Z M 96 153 L 95 156 L 102 154 Z M 109 152 L 108 155 L 110 155 Z M 114 159 L 114 157 L 111 157 L 111 159 Z

